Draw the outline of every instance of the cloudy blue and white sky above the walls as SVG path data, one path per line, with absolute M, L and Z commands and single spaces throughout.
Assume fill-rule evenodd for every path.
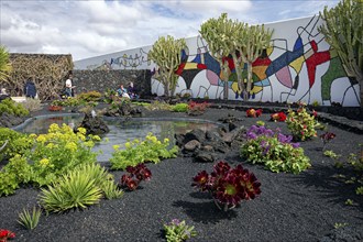
M 0 0 L 0 44 L 11 53 L 72 54 L 74 61 L 191 37 L 227 12 L 261 24 L 310 16 L 339 0 Z

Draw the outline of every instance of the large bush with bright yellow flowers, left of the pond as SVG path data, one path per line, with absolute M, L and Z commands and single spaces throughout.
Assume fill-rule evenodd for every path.
M 91 148 L 100 138 L 86 136 L 86 129 L 79 128 L 75 133 L 66 124 L 53 123 L 46 134 L 31 134 L 34 141 L 32 151 L 25 156 L 32 161 L 33 182 L 40 186 L 47 185 L 55 177 L 84 163 L 96 163 L 97 153 Z

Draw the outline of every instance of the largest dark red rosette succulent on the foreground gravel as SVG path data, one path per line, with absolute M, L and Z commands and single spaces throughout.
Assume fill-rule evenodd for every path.
M 231 168 L 227 162 L 217 163 L 211 174 L 206 170 L 198 173 L 193 178 L 191 186 L 201 191 L 209 191 L 217 207 L 224 211 L 234 208 L 242 200 L 254 199 L 261 194 L 261 183 L 253 173 L 242 165 Z

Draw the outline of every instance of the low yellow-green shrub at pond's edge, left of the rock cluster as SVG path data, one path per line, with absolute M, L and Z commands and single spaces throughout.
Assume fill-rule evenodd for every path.
M 128 166 L 136 166 L 140 163 L 153 162 L 158 163 L 164 158 L 176 157 L 178 147 L 174 145 L 168 148 L 169 140 L 158 141 L 155 135 L 148 133 L 144 141 L 135 139 L 124 144 L 125 150 L 119 150 L 119 145 L 114 145 L 114 152 L 110 158 L 113 169 L 124 169 Z

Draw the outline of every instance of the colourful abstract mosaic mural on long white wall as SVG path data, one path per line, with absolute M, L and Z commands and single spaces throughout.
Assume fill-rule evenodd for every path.
M 253 63 L 253 86 L 249 94 L 252 101 L 270 102 L 319 102 L 330 106 L 360 106 L 359 84 L 346 77 L 337 52 L 326 43 L 318 32 L 319 16 L 304 18 L 265 24 L 274 29 L 272 47 Z M 237 74 L 231 56 L 226 56 L 231 69 L 226 85 L 221 78 L 219 63 L 210 55 L 208 43 L 200 36 L 187 38 L 187 48 L 182 53 L 182 64 L 176 94 L 194 98 L 223 98 L 228 87 L 228 99 L 243 100 L 238 89 Z M 157 68 L 147 59 L 151 46 L 114 53 L 107 56 L 78 61 L 76 68 L 129 69 Z M 242 70 L 246 78 L 246 68 Z M 163 95 L 163 85 L 152 81 L 152 92 Z

